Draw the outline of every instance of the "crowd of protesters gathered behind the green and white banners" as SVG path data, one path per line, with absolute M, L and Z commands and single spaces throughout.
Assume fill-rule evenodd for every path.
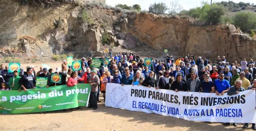
M 106 48 L 107 49 L 107 48 Z M 109 50 L 108 50 L 109 51 Z M 106 55 L 108 56 L 108 55 Z M 82 69 L 78 72 L 72 72 L 67 66 L 67 61 L 63 60 L 62 68 L 57 67 L 55 73 L 62 75 L 61 84 L 68 87 L 76 86 L 77 83 L 88 83 L 92 86 L 88 108 L 97 109 L 99 93 L 103 94 L 104 102 L 106 97 L 107 83 L 116 83 L 124 85 L 133 85 L 138 83 L 145 87 L 154 87 L 155 89 L 167 89 L 188 92 L 216 93 L 216 95 L 239 94 L 241 91 L 256 88 L 256 68 L 255 62 L 250 59 L 249 62 L 243 59 L 240 63 L 234 61 L 229 64 L 225 56 L 218 56 L 214 62 L 204 57 L 198 57 L 195 61 L 194 55 L 188 54 L 184 58 L 179 57 L 174 60 L 172 56 L 166 55 L 165 60 L 154 60 L 152 66 L 145 66 L 144 60 L 139 55 L 132 52 L 119 52 L 112 57 L 110 53 L 110 62 L 105 71 L 102 62 L 99 70 L 91 67 L 92 58 L 81 59 Z M 102 55 L 100 59 L 104 59 Z M 197 65 L 197 68 L 195 67 Z M 5 67 L 5 69 L 3 69 Z M 47 87 L 55 86 L 50 82 L 50 73 L 53 69 L 40 67 L 36 72 L 34 66 L 27 67 L 26 72 L 8 72 L 8 66 L 0 65 L 1 90 L 24 90 L 35 88 L 36 77 L 48 77 Z M 14 80 L 13 80 L 14 79 Z M 137 84 L 136 84 L 137 85 Z M 80 109 L 80 107 L 78 107 Z M 229 125 L 230 123 L 224 123 Z M 237 126 L 236 123 L 233 123 Z M 247 128 L 248 123 L 243 128 Z M 252 128 L 256 130 L 255 123 Z

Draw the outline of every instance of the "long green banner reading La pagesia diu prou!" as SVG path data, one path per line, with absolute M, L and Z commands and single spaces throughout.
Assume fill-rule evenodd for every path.
M 27 91 L 0 91 L 0 113 L 38 113 L 88 106 L 90 84 L 53 86 Z

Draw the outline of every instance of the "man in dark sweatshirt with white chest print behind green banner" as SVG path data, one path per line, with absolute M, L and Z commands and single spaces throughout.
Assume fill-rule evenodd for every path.
M 19 85 L 23 88 L 23 91 L 27 91 L 27 89 L 36 88 L 36 80 L 32 75 L 32 69 L 30 67 L 27 68 L 27 73 L 24 74 L 21 79 L 19 79 Z

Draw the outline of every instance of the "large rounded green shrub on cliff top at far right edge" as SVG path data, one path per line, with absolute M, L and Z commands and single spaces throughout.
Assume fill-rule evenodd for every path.
M 256 28 L 256 14 L 253 12 L 238 12 L 233 21 L 235 27 L 240 27 L 243 32 Z

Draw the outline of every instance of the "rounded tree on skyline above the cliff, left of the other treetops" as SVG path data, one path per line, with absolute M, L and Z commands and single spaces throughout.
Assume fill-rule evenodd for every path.
M 161 3 L 154 3 L 154 4 L 150 4 L 149 6 L 149 13 L 155 13 L 157 15 L 159 14 L 163 14 L 168 10 L 168 7 L 165 3 L 161 2 Z

